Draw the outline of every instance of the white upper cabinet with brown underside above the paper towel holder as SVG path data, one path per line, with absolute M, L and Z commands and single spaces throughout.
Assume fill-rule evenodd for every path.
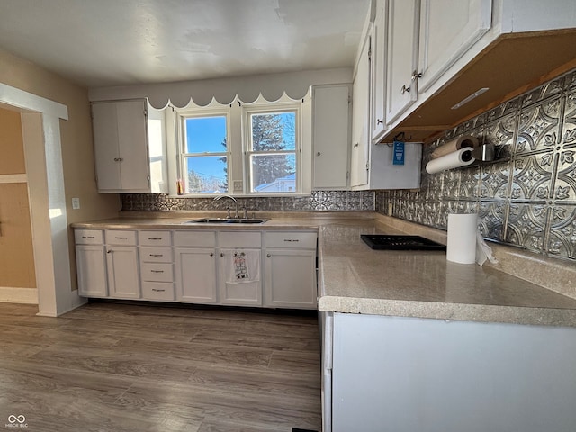
M 537 85 L 542 76 L 565 70 L 573 59 L 572 51 L 563 49 L 576 40 L 573 0 L 377 3 L 373 142 L 392 142 L 401 131 L 416 140 L 428 139 L 491 103 Z M 533 52 L 527 55 L 529 49 Z M 383 52 L 384 66 L 379 61 Z M 383 83 L 384 95 L 379 88 Z M 473 94 L 473 103 L 459 104 Z M 383 97 L 385 126 L 380 122 Z

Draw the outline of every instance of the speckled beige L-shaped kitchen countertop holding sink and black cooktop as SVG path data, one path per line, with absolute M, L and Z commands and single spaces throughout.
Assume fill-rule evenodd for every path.
M 491 266 L 451 263 L 446 261 L 446 252 L 442 251 L 371 249 L 361 240 L 360 234 L 423 235 L 410 232 L 406 227 L 400 230 L 393 223 L 386 223 L 391 218 L 380 217 L 377 213 L 308 213 L 308 216 L 302 214 L 300 217 L 263 213 L 258 217 L 272 220 L 261 225 L 182 225 L 184 220 L 204 217 L 198 214 L 184 217 L 137 215 L 75 223 L 72 227 L 318 229 L 320 311 L 576 327 L 576 299 Z M 446 244 L 446 234 L 436 231 L 428 229 L 423 237 Z M 498 254 L 496 256 L 501 259 Z

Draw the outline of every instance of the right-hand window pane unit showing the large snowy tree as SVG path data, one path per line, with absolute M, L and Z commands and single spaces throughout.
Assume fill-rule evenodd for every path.
M 297 124 L 295 111 L 248 113 L 250 191 L 295 193 Z

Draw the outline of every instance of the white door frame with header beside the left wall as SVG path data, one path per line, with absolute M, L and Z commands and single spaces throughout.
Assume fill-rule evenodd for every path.
M 67 106 L 2 83 L 0 104 L 21 112 L 38 315 L 56 317 L 85 302 L 72 291 L 70 280 L 60 141 L 60 120 L 68 120 Z

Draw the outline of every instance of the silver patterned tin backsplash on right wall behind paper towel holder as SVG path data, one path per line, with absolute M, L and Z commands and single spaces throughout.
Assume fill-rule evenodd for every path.
M 485 237 L 576 260 L 576 71 L 502 103 L 425 146 L 464 134 L 500 147 L 483 166 L 428 175 L 421 189 L 377 193 L 376 210 L 446 229 L 448 213 L 478 212 Z

